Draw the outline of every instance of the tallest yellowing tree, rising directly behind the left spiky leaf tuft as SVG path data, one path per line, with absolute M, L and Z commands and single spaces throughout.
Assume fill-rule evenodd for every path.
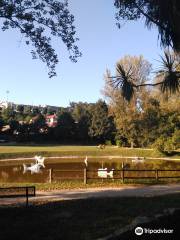
M 129 78 L 131 77 L 133 84 L 144 84 L 148 81 L 151 64 L 143 56 L 125 56 L 117 62 L 117 66 L 119 65 L 123 65 L 125 72 L 131 69 Z M 117 67 L 117 74 L 119 74 L 118 72 L 119 68 Z M 148 115 L 144 111 L 150 96 L 149 89 L 143 88 L 142 91 L 134 92 L 131 101 L 129 98 L 127 101 L 121 94 L 123 90 L 114 87 L 114 83 L 109 79 L 110 75 L 110 71 L 107 70 L 103 94 L 108 99 L 110 113 L 114 116 L 117 128 L 116 140 L 121 141 L 123 145 L 143 146 L 148 142 L 150 130 L 143 129 L 144 125 L 153 125 L 152 122 L 143 122 L 143 119 Z M 153 118 L 151 119 L 153 121 Z M 145 134 L 146 131 L 147 134 Z

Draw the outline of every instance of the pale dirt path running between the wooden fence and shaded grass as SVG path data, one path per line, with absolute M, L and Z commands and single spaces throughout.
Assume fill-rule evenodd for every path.
M 46 202 L 57 200 L 86 199 L 98 197 L 152 197 L 165 194 L 180 193 L 180 184 L 152 186 L 123 186 L 118 188 L 90 188 L 78 190 L 37 191 L 30 202 Z M 0 198 L 0 206 L 21 204 L 25 198 Z

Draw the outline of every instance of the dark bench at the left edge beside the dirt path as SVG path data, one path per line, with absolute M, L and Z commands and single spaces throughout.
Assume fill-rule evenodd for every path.
M 28 207 L 29 197 L 36 196 L 35 186 L 25 186 L 25 187 L 6 187 L 0 188 L 0 198 L 26 198 L 26 207 Z

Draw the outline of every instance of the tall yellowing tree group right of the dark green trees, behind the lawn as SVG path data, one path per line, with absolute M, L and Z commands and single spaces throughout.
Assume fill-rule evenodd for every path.
M 159 84 L 163 79 L 169 84 L 169 65 L 163 63 L 153 78 L 152 66 L 143 56 L 127 55 L 120 59 L 114 81 L 106 70 L 103 93 L 115 122 L 115 141 L 119 145 L 155 147 L 166 153 L 180 148 L 180 96 L 173 88 L 169 90 Z M 179 62 L 175 65 L 178 67 Z M 158 84 L 152 87 L 147 82 Z M 134 91 L 131 86 L 138 87 Z M 128 94 L 131 101 L 126 100 Z

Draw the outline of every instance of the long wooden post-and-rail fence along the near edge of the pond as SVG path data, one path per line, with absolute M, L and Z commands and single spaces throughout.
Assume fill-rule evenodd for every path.
M 88 180 L 121 180 L 122 183 L 125 180 L 139 180 L 139 179 L 151 179 L 159 181 L 160 179 L 170 179 L 176 178 L 180 179 L 180 169 L 114 169 L 108 170 L 113 171 L 113 175 L 107 177 L 99 177 L 98 172 L 105 172 L 105 169 L 50 169 L 49 170 L 49 182 L 59 181 L 59 180 L 82 180 L 84 184 L 88 183 Z

